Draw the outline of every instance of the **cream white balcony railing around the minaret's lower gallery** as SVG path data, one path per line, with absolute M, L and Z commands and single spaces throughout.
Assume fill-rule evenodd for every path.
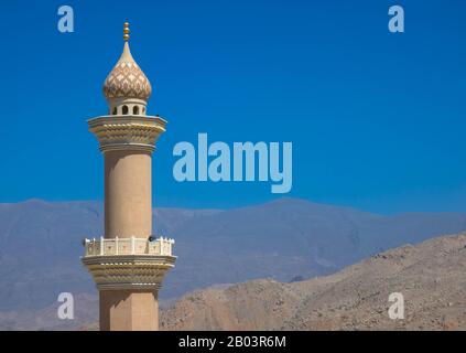
M 174 239 L 160 237 L 150 242 L 147 238 L 104 238 L 85 239 L 85 255 L 88 256 L 115 256 L 115 255 L 159 255 L 172 256 Z

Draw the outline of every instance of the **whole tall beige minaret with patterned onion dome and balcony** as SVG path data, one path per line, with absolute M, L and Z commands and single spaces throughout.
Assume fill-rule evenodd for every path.
M 158 292 L 174 267 L 173 239 L 152 235 L 152 152 L 166 121 L 147 116 L 152 88 L 129 49 L 104 84 L 109 114 L 88 120 L 105 160 L 105 235 L 85 239 L 99 290 L 100 330 L 158 330 Z

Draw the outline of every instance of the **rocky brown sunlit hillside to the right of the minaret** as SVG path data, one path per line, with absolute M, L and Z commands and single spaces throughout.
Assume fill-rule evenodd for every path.
M 392 320 L 389 296 L 404 297 Z M 405 245 L 327 276 L 209 288 L 162 311 L 162 330 L 466 330 L 466 234 Z

